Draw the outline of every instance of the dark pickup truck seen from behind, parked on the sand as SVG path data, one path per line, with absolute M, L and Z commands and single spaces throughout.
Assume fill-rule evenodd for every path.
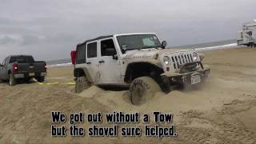
M 0 64 L 0 82 L 9 81 L 10 86 L 18 80 L 29 82 L 31 78 L 43 82 L 46 74 L 46 62 L 35 62 L 30 55 L 11 55 Z

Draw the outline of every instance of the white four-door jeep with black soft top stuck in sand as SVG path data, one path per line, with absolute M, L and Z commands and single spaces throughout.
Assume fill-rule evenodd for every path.
M 195 50 L 165 49 L 152 33 L 114 34 L 78 44 L 74 78 L 77 93 L 91 84 L 128 86 L 134 105 L 146 102 L 157 90 L 171 85 L 202 83 L 210 68 Z

